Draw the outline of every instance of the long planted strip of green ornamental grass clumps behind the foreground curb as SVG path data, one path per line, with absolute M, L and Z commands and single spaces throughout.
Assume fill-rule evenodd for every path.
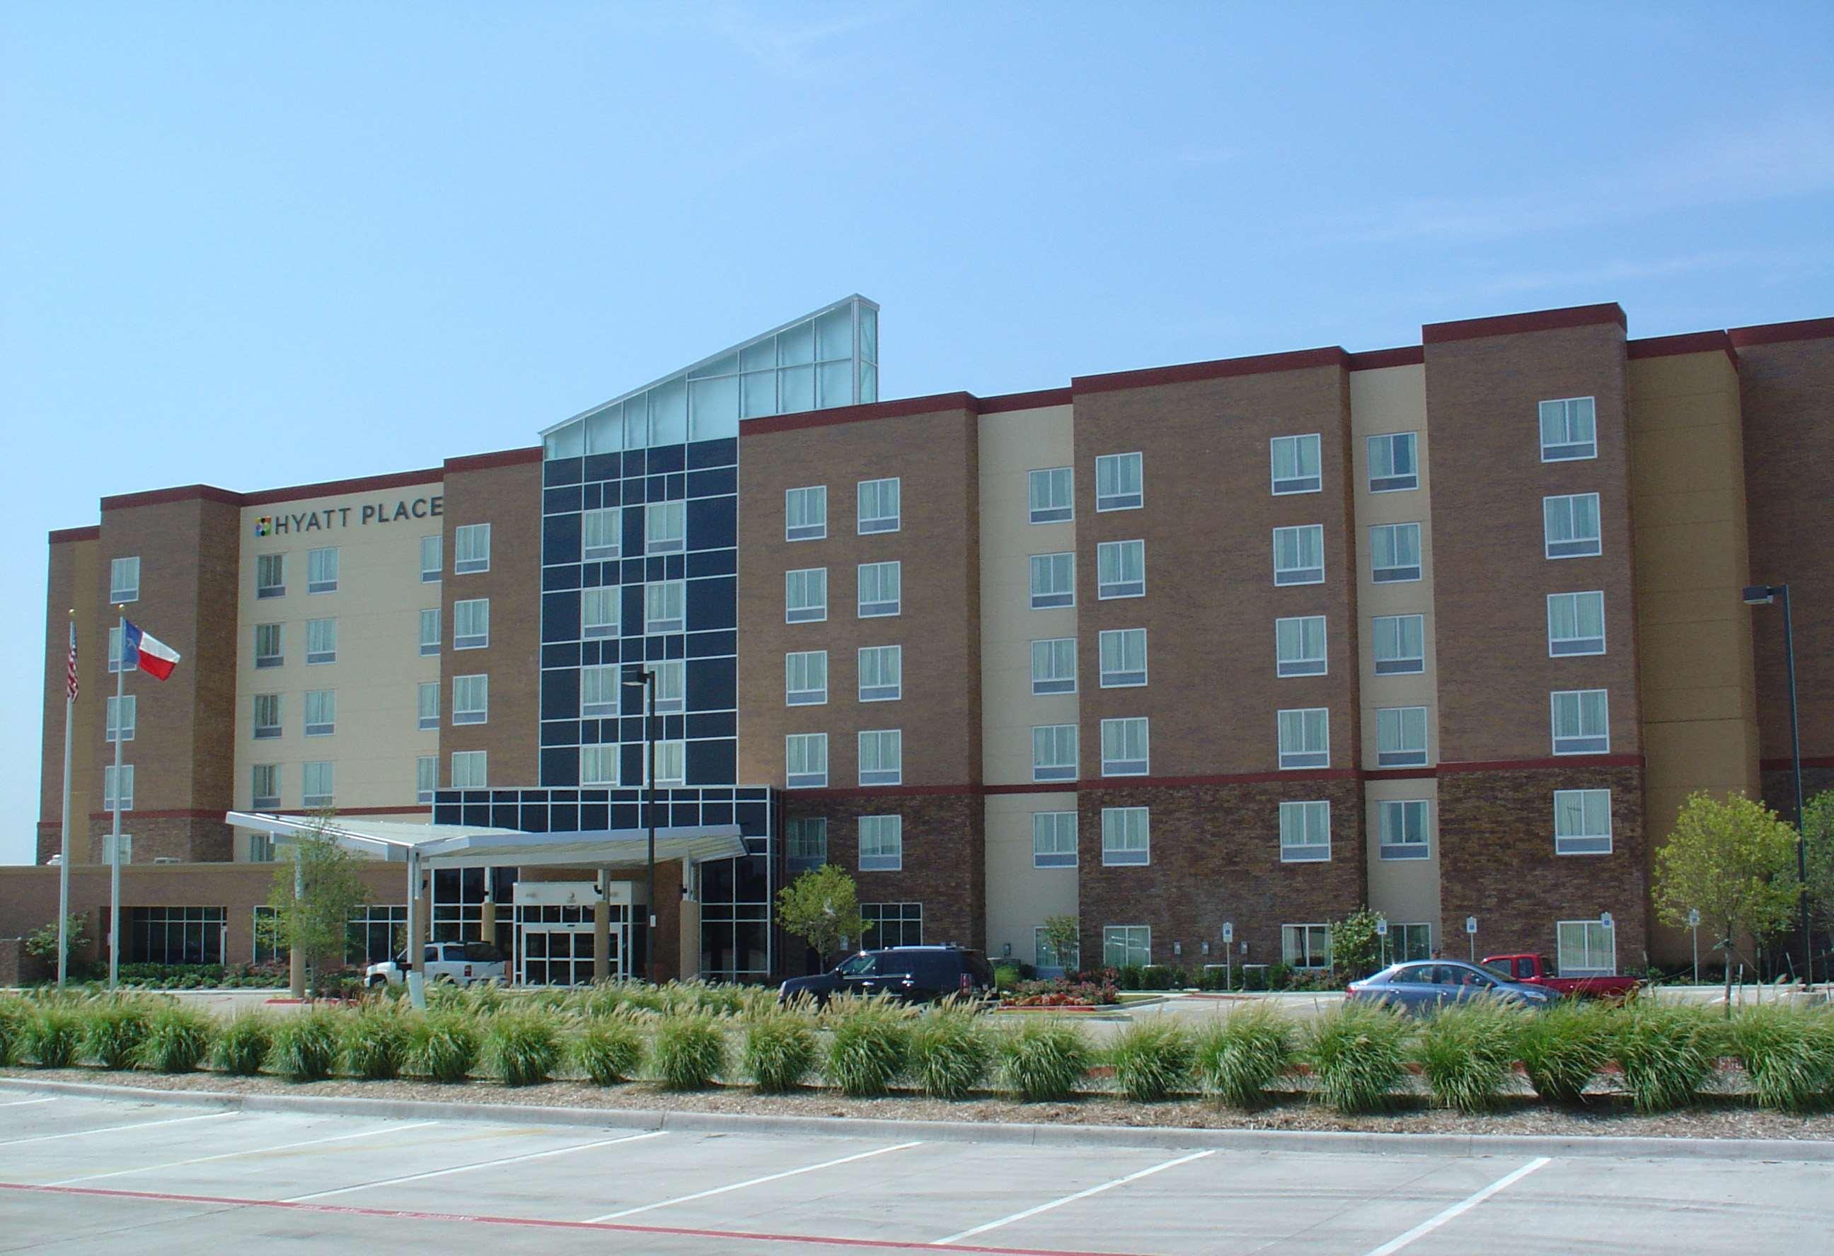
M 1154 1016 L 1097 1043 L 1064 1018 L 845 997 L 783 1008 L 770 990 L 699 983 L 475 986 L 431 992 L 425 1012 L 372 997 L 229 1021 L 167 996 L 37 994 L 0 999 L 0 1062 L 40 1076 L 138 1071 L 160 1085 L 209 1071 L 378 1098 L 563 1085 L 636 1106 L 732 1095 L 746 1111 L 807 1111 L 827 1096 L 919 1118 L 937 1118 L 941 1102 L 998 1104 L 1018 1115 L 994 1118 L 1022 1120 L 1038 1120 L 1036 1106 L 1086 1106 L 1121 1124 L 1265 1126 L 1304 1109 L 1399 1128 L 1445 1128 L 1434 1117 L 1449 1113 L 1605 1131 L 1601 1117 L 1711 1113 L 1750 1133 L 1751 1118 L 1786 1113 L 1792 1137 L 1834 1137 L 1834 1118 L 1803 1117 L 1834 1106 L 1834 1010 L 1781 1005 L 1731 1018 L 1651 1001 L 1464 1005 L 1416 1021 L 1344 1003 L 1302 1023 L 1249 1003 L 1196 1029 Z M 855 1115 L 833 1115 L 844 1111 Z

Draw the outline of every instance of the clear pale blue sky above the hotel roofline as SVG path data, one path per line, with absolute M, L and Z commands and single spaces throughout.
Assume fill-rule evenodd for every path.
M 6 6 L 0 860 L 44 534 L 105 493 L 532 444 L 849 292 L 888 398 L 1830 315 L 1830 48 L 1827 4 Z

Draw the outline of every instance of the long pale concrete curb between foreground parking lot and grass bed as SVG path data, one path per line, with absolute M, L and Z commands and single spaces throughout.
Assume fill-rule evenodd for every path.
M 967 1120 L 882 1120 L 875 1117 L 748 1117 L 666 1113 L 616 1107 L 539 1107 L 409 1098 L 330 1098 L 315 1095 L 229 1095 L 152 1091 L 138 1085 L 0 1078 L 13 1091 L 138 1100 L 176 1107 L 249 1113 L 369 1117 L 381 1120 L 468 1120 L 547 1124 L 587 1129 L 675 1129 L 723 1135 L 801 1135 L 825 1139 L 911 1139 L 1034 1148 L 1146 1148 L 1221 1151 L 1311 1151 L 1355 1155 L 1548 1155 L 1561 1159 L 1720 1159 L 1834 1164 L 1834 1139 L 1630 1139 L 1618 1135 L 1544 1137 L 1513 1133 L 1359 1133 L 1352 1129 L 1166 1129 L 1137 1126 L 1044 1126 Z

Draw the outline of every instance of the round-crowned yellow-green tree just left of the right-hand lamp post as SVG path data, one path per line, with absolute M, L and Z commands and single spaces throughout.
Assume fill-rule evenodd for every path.
M 1726 1016 L 1731 1016 L 1735 939 L 1764 937 L 1790 924 L 1803 887 L 1795 882 L 1795 829 L 1742 794 L 1724 801 L 1689 794 L 1674 832 L 1656 851 L 1656 915 L 1687 924 L 1696 908 L 1726 948 Z

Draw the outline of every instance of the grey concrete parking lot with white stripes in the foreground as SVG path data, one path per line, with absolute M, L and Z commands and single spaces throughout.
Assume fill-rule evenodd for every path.
M 1834 1164 L 1033 1148 L 0 1091 L 0 1250 L 1819 1250 Z

